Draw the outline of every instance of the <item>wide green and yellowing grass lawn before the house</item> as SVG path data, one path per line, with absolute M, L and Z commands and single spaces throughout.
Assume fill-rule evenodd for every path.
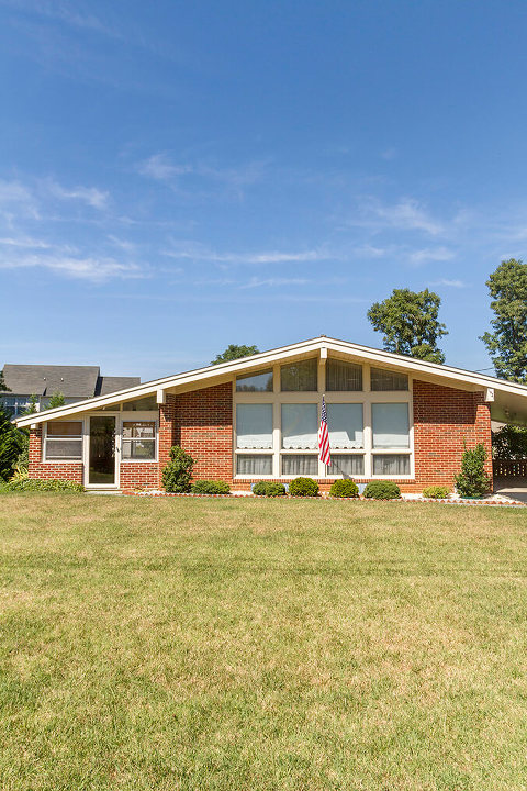
M 0 789 L 527 789 L 527 515 L 0 497 Z

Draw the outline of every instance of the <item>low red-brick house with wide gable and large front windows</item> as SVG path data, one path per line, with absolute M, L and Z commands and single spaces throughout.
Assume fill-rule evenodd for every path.
M 332 464 L 318 460 L 322 396 Z M 159 487 L 172 445 L 194 478 L 248 490 L 260 479 L 391 479 L 452 486 L 491 419 L 527 425 L 527 387 L 321 336 L 177 374 L 16 421 L 30 475 L 94 489 Z

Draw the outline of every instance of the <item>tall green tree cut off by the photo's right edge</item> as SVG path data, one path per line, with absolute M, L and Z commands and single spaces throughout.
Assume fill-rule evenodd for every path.
M 496 376 L 527 385 L 527 264 L 503 260 L 486 281 L 492 297 L 494 332 L 481 341 L 491 355 Z

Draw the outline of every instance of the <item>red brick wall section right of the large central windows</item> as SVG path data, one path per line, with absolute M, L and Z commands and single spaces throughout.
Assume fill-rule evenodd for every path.
M 491 413 L 482 392 L 414 381 L 415 489 L 453 484 L 464 450 L 482 443 L 492 480 Z

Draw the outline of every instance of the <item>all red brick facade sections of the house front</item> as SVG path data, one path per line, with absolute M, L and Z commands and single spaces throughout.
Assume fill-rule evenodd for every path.
M 470 392 L 415 380 L 415 479 L 397 480 L 402 491 L 418 492 L 426 486 L 453 486 L 467 447 L 483 443 L 489 453 L 486 471 L 492 478 L 491 417 L 482 392 Z M 181 445 L 195 459 L 194 479 L 225 480 L 236 490 L 251 481 L 233 481 L 232 383 L 166 396 L 159 406 L 159 463 L 122 463 L 122 488 L 152 488 L 161 483 L 172 445 Z M 82 464 L 43 464 L 41 427 L 31 432 L 30 475 L 69 478 L 82 482 Z M 255 478 L 255 480 L 257 480 Z M 333 479 L 318 481 L 323 491 Z

